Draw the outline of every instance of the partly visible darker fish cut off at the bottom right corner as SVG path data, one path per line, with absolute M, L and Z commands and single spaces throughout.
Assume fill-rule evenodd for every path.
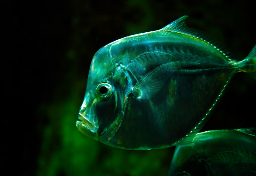
M 177 146 L 169 176 L 256 175 L 256 128 L 197 133 L 194 146 Z

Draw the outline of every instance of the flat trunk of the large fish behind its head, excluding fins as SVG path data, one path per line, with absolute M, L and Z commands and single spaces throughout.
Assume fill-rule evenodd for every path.
M 235 69 L 213 45 L 197 38 L 193 44 L 195 38 L 179 33 L 170 37 L 165 31 L 154 31 L 109 44 L 115 63 L 122 64 L 124 72 L 129 72 L 125 76 L 132 74 L 131 87 L 162 64 L 198 63 L 191 64 L 192 68 L 166 71 L 161 93 L 151 98 L 128 96 L 122 125 L 112 139 L 114 143 L 118 141 L 124 148 L 172 146 L 209 113 Z M 114 144 L 108 141 L 108 145 Z

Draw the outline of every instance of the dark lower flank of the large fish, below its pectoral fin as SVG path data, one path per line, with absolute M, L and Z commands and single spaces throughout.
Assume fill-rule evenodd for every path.
M 113 141 L 120 141 L 127 148 L 131 143 L 134 147 L 144 145 L 145 148 L 172 145 L 194 130 L 209 113 L 226 85 L 228 71 L 209 71 L 209 76 L 174 73 L 160 90 L 161 95 L 150 99 L 129 97 L 122 126 Z M 136 130 L 130 131 L 131 128 Z

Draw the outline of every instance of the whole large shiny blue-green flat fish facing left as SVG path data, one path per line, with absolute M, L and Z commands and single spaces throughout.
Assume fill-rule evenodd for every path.
M 124 149 L 190 145 L 230 78 L 255 75 L 256 46 L 233 61 L 186 27 L 186 18 L 95 53 L 76 121 L 83 134 Z

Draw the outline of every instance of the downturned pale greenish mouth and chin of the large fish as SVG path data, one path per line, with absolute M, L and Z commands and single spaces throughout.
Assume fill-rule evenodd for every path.
M 80 132 L 82 132 L 85 136 L 88 136 L 94 140 L 97 140 L 97 130 L 98 124 L 94 122 L 90 117 L 84 115 L 84 113 L 80 113 L 78 115 L 78 119 L 76 121 L 76 127 Z

